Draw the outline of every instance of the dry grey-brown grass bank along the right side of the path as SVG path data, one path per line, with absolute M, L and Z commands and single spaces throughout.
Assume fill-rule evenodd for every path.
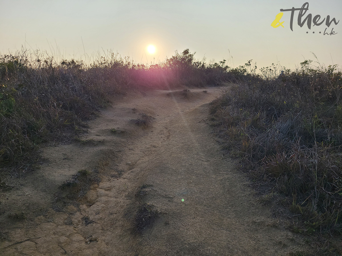
M 301 216 L 293 230 L 318 234 L 317 255 L 338 255 L 342 247 L 326 241 L 342 235 L 342 73 L 310 62 L 279 78 L 275 69 L 245 74 L 212 102 L 212 121 L 252 180 L 289 199 Z M 260 201 L 271 202 L 273 193 Z

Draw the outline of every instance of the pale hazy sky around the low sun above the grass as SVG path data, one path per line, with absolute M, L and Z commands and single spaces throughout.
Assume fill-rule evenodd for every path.
M 258 68 L 272 63 L 289 68 L 304 59 L 326 66 L 342 66 L 342 0 L 311 0 L 302 20 L 312 14 L 336 18 L 308 29 L 298 25 L 299 11 L 285 11 L 280 22 L 271 23 L 280 9 L 301 8 L 305 1 L 86 1 L 86 0 L 0 0 L 0 52 L 6 54 L 22 46 L 47 51 L 55 58 L 84 58 L 103 50 L 129 56 L 136 62 L 164 60 L 175 50 L 189 48 L 195 58 L 207 62 L 226 59 L 237 67 L 248 60 Z M 313 25 L 313 24 L 312 24 Z M 331 30 L 336 34 L 330 35 Z M 324 35 L 324 31 L 329 34 Z M 308 33 L 306 33 L 308 32 Z M 315 32 L 315 33 L 313 33 Z M 321 33 L 319 33 L 321 32 Z M 26 40 L 26 41 L 25 41 Z M 83 43 L 82 43 L 83 41 Z M 157 51 L 146 51 L 149 44 Z M 83 48 L 84 45 L 84 48 Z M 230 54 L 229 54 L 229 51 Z M 232 57 L 230 57 L 232 56 Z

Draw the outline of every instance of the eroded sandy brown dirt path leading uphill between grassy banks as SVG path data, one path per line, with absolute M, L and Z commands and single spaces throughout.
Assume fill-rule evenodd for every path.
M 97 166 L 101 182 L 79 200 L 79 209 L 53 208 L 47 187 L 44 194 L 27 183 L 16 194 L 3 194 L 5 206 L 5 198 L 15 200 L 30 191 L 35 199 L 29 200 L 41 209 L 43 204 L 49 207 L 44 214 L 7 224 L 4 230 L 12 241 L 0 244 L 0 254 L 211 256 L 294 251 L 297 238 L 256 202 L 244 176 L 231 159 L 222 158 L 210 134 L 209 102 L 220 89 L 194 89 L 184 93 L 188 98 L 178 91 L 135 93 L 90 122 L 83 138 L 92 139 L 90 145 L 46 148 L 49 164 L 31 180 L 40 177 L 41 184 L 55 191 L 80 169 Z M 139 113 L 156 119 L 148 128 L 137 127 L 130 120 Z M 117 127 L 125 132 L 110 132 Z M 152 227 L 133 233 L 135 213 L 143 203 L 159 214 Z M 86 243 L 89 237 L 95 241 Z

